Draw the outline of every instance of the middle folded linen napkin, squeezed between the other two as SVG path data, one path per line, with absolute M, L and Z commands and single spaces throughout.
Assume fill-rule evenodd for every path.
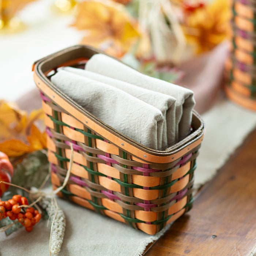
M 133 84 L 129 84 L 117 79 L 109 78 L 94 72 L 90 72 L 84 69 L 64 67 L 65 71 L 69 71 L 73 74 L 81 75 L 98 82 L 106 83 L 111 86 L 114 86 L 120 90 L 125 91 L 126 93 L 131 94 L 132 96 L 154 106 L 159 109 L 164 118 L 163 123 L 163 136 L 162 136 L 162 148 L 167 145 L 173 144 L 176 140 L 175 138 L 175 102 L 170 95 L 163 93 L 158 93 L 155 91 L 147 90 Z

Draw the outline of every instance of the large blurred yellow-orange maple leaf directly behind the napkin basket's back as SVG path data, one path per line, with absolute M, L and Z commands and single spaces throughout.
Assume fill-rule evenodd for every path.
M 100 48 L 116 57 L 123 56 L 138 40 L 138 23 L 124 6 L 113 1 L 83 1 L 77 5 L 75 23 L 87 30 L 82 44 Z

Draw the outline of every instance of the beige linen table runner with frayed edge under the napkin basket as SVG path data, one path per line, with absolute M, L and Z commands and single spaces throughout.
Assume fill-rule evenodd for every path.
M 197 158 L 195 187 L 211 179 L 256 127 L 256 113 L 225 99 L 220 99 L 203 118 L 206 135 Z M 61 256 L 142 255 L 147 244 L 157 240 L 169 228 L 150 236 L 65 200 L 58 199 L 58 202 L 67 218 Z M 50 228 L 46 223 L 40 221 L 31 233 L 21 229 L 8 237 L 0 234 L 1 255 L 49 255 Z

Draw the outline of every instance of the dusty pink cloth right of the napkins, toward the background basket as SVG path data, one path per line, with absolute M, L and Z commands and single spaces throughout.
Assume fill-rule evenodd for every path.
M 211 52 L 186 61 L 179 67 L 184 76 L 176 84 L 194 92 L 195 110 L 200 114 L 210 109 L 221 93 L 227 55 L 228 44 L 223 42 Z

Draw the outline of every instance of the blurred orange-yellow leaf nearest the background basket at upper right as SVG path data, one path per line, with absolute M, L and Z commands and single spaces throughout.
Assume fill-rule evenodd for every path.
M 230 4 L 227 0 L 215 0 L 185 18 L 183 29 L 188 43 L 196 47 L 197 53 L 213 49 L 227 38 Z

